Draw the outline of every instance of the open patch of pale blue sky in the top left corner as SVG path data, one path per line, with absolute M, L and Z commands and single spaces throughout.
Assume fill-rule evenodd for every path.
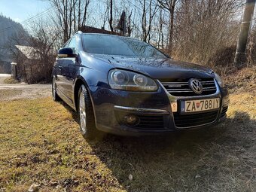
M 47 8 L 50 8 L 47 0 L 0 0 L 0 14 L 19 23 Z

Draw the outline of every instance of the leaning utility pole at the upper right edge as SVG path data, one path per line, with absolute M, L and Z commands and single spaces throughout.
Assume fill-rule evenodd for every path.
M 246 62 L 246 47 L 256 0 L 246 0 L 239 39 L 236 47 L 235 66 L 241 68 Z

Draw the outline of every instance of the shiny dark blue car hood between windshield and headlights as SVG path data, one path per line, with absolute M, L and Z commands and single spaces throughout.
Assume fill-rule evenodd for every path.
M 93 57 L 108 62 L 113 68 L 140 72 L 154 79 L 214 77 L 212 69 L 169 58 L 154 59 L 106 55 L 93 55 Z

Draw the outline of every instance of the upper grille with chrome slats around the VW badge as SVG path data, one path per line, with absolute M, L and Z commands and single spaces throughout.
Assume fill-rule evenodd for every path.
M 172 95 L 172 96 L 199 96 L 197 93 L 194 93 L 190 89 L 188 81 L 171 81 L 171 82 L 161 82 L 163 87 Z M 217 87 L 214 81 L 214 78 L 199 79 L 203 86 L 203 92 L 200 96 L 207 96 L 216 93 Z

